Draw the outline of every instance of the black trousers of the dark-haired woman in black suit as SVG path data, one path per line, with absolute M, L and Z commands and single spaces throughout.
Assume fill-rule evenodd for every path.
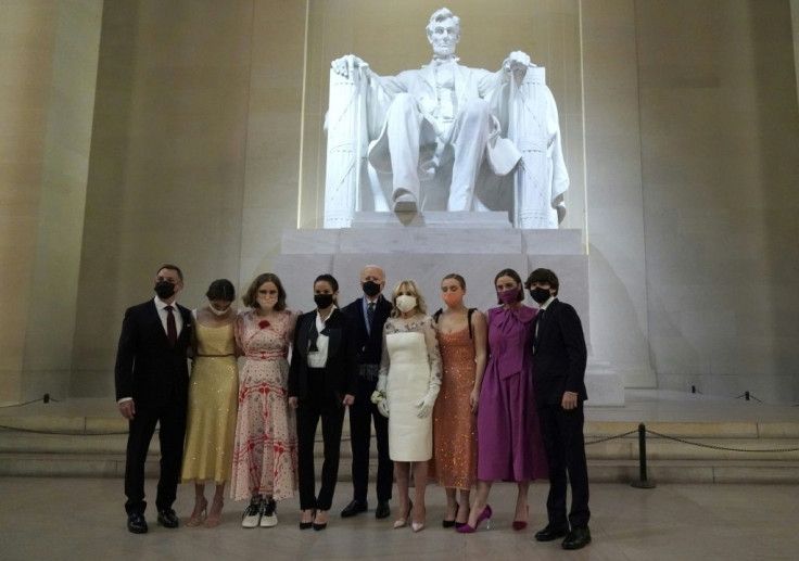
M 343 396 L 342 396 L 343 397 Z M 325 461 L 321 467 L 319 495 L 315 493 L 314 439 L 321 419 L 321 437 Z M 305 399 L 296 409 L 296 433 L 300 444 L 299 476 L 300 508 L 302 510 L 330 510 L 333 503 L 335 482 L 339 479 L 341 431 L 344 426 L 344 406 L 325 384 L 325 370 L 308 368 L 308 386 Z

